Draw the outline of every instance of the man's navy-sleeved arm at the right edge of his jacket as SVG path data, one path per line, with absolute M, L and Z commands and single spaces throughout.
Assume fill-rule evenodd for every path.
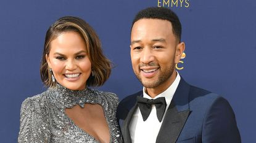
M 202 128 L 202 142 L 241 142 L 233 109 L 226 99 L 219 97 L 209 107 Z

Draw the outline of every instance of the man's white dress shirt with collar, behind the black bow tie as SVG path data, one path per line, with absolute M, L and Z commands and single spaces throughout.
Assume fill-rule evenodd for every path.
M 176 88 L 178 87 L 178 84 L 180 83 L 180 75 L 177 72 L 176 79 L 174 82 L 170 85 L 170 87 L 167 88 L 167 90 L 163 91 L 159 95 L 155 96 L 155 98 L 151 98 L 151 96 L 147 95 L 145 92 L 145 87 L 143 87 L 143 97 L 148 99 L 156 99 L 160 97 L 165 97 L 165 101 L 167 103 L 165 114 L 167 112 L 168 107 L 170 106 L 171 99 L 173 98 L 173 95 L 176 91 Z M 162 125 L 163 119 L 165 117 L 165 114 L 163 114 L 163 118 L 161 122 L 159 122 L 157 118 L 157 110 L 155 109 L 155 106 L 152 105 L 151 113 L 149 114 L 149 117 L 146 121 L 143 121 L 141 111 L 139 110 L 139 107 L 135 110 L 133 117 L 131 118 L 131 122 L 129 125 L 130 129 L 130 135 L 131 135 L 131 142 L 133 143 L 155 143 L 157 140 L 157 135 L 159 133 L 160 127 Z

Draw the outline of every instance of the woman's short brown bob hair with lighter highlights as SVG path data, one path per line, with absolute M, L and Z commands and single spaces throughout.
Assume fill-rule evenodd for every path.
M 59 34 L 74 31 L 83 38 L 86 44 L 89 60 L 91 61 L 91 75 L 86 81 L 86 86 L 101 86 L 109 78 L 112 63 L 104 56 L 101 41 L 94 29 L 78 17 L 62 17 L 49 27 L 44 41 L 44 51 L 41 59 L 40 74 L 43 83 L 47 87 L 55 87 L 56 82 L 51 79 L 51 72 L 46 61 L 46 55 L 51 50 L 50 43 Z

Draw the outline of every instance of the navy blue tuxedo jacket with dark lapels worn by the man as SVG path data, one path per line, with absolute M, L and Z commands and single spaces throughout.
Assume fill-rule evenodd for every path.
M 131 142 L 129 124 L 138 107 L 136 96 L 142 96 L 142 91 L 127 96 L 117 107 L 117 120 L 125 143 Z M 156 142 L 239 143 L 241 137 L 226 99 L 193 87 L 181 78 Z

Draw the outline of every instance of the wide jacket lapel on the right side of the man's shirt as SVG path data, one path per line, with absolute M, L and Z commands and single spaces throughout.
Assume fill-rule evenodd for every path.
M 157 136 L 157 143 L 175 143 L 189 116 L 189 85 L 182 78 L 167 109 Z

